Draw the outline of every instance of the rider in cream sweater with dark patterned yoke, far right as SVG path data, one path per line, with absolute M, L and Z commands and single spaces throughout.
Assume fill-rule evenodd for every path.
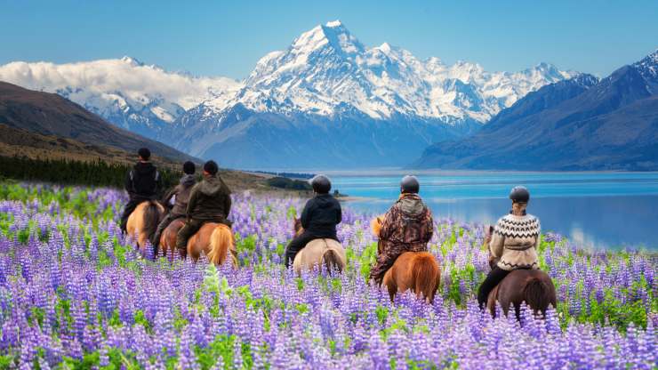
M 489 271 L 477 290 L 477 303 L 485 308 L 489 293 L 514 269 L 539 269 L 537 247 L 540 243 L 539 219 L 526 213 L 530 200 L 528 189 L 518 186 L 511 190 L 512 209 L 496 223 L 485 237 L 493 259 L 500 259 Z

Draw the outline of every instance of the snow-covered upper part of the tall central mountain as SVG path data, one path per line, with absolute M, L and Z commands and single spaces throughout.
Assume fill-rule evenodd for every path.
M 418 60 L 387 43 L 367 48 L 336 20 L 301 34 L 285 51 L 270 52 L 232 99 L 205 101 L 205 107 L 219 113 L 239 103 L 261 112 L 333 116 L 347 105 L 376 119 L 403 114 L 485 123 L 526 93 L 570 76 L 574 72 L 547 63 L 487 72 L 465 61 Z

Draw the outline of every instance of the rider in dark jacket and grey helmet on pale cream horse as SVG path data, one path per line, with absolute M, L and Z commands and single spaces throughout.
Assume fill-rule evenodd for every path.
M 294 237 L 287 248 L 285 248 L 285 267 L 294 261 L 294 257 L 311 240 L 328 238 L 338 240 L 336 236 L 336 225 L 342 221 L 341 204 L 329 194 L 332 183 L 322 174 L 317 175 L 310 181 L 315 197 L 309 199 L 301 212 L 301 227 L 304 232 Z

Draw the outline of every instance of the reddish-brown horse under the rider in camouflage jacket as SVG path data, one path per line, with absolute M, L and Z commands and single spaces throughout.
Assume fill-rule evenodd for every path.
M 382 221 L 383 217 L 380 216 L 370 222 L 375 237 L 380 235 Z M 400 254 L 393 266 L 386 271 L 381 285 L 389 290 L 391 301 L 395 294 L 411 289 L 419 299 L 424 297 L 426 302 L 431 303 L 440 283 L 441 269 L 431 253 L 405 252 Z

